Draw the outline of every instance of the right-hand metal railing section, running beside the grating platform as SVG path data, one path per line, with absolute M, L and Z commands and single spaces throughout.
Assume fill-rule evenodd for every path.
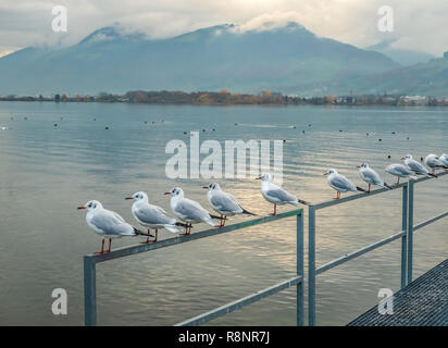
M 437 173 L 437 176 L 447 175 L 448 172 Z M 343 204 L 352 200 L 372 197 L 378 194 L 390 191 L 388 188 L 381 188 L 370 194 L 357 194 L 345 197 L 339 200 L 327 201 L 319 204 L 313 204 L 308 208 L 308 325 L 315 325 L 315 276 L 322 274 L 339 264 L 358 258 L 366 252 L 385 246 L 396 239 L 401 238 L 401 287 L 405 287 L 412 282 L 412 260 L 413 260 L 413 233 L 424 226 L 427 226 L 443 217 L 448 216 L 448 212 L 436 215 L 418 225 L 413 224 L 414 215 L 414 184 L 434 179 L 430 177 L 409 181 L 400 185 L 394 186 L 394 189 L 402 188 L 401 203 L 401 231 L 382 240 L 378 240 L 370 246 L 361 248 L 354 252 L 345 254 L 338 259 L 329 261 L 318 269 L 315 268 L 315 212 L 328 207 Z

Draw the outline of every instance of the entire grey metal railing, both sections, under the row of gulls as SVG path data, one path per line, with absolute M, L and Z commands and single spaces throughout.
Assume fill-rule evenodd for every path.
M 447 175 L 448 172 L 438 173 L 438 176 Z M 413 224 L 413 211 L 414 211 L 414 184 L 422 183 L 432 178 L 423 177 L 418 181 L 409 181 L 408 183 L 402 183 L 400 185 L 394 186 L 395 189 L 402 188 L 402 204 L 401 204 L 401 231 L 395 233 L 394 235 L 381 239 L 374 244 L 356 250 L 351 253 L 345 254 L 333 261 L 329 261 L 319 268 L 315 268 L 315 212 L 321 209 L 328 207 L 343 204 L 352 200 L 358 200 L 361 198 L 373 197 L 386 191 L 390 191 L 387 188 L 376 189 L 370 194 L 357 194 L 341 198 L 339 200 L 326 201 L 319 204 L 309 206 L 308 214 L 308 324 L 310 326 L 315 325 L 315 276 L 322 274 L 328 270 L 334 269 L 347 261 L 356 259 L 362 254 L 365 254 L 372 250 L 375 250 L 382 246 L 385 246 L 394 240 L 401 238 L 401 279 L 400 285 L 405 287 L 412 281 L 412 260 L 413 260 L 413 233 L 420 228 L 423 228 L 443 217 L 448 216 L 448 212 L 436 215 L 430 220 L 426 220 L 418 225 Z M 250 221 L 245 221 L 241 223 L 224 226 L 221 228 L 211 228 L 207 231 L 201 231 L 194 233 L 188 236 L 179 236 L 169 239 L 163 239 L 153 244 L 136 245 L 132 247 L 124 247 L 113 250 L 109 253 L 103 254 L 88 254 L 84 257 L 84 298 L 85 298 L 85 324 L 92 326 L 97 324 L 97 298 L 96 298 L 96 264 L 100 262 L 105 262 L 109 260 L 114 260 L 122 257 L 128 257 L 132 254 L 137 254 L 140 252 L 151 251 L 160 248 L 165 248 L 170 246 L 175 246 L 182 243 L 192 241 L 223 233 L 228 233 L 236 229 L 241 229 L 250 226 L 256 226 L 264 223 L 270 223 L 276 220 L 282 220 L 286 217 L 297 216 L 297 274 L 296 276 L 284 281 L 282 283 L 275 284 L 263 290 L 253 293 L 244 298 L 237 299 L 233 302 L 226 303 L 214 310 L 206 312 L 203 314 L 197 315 L 195 318 L 188 319 L 178 323 L 177 325 L 200 325 L 216 319 L 226 313 L 233 312 L 237 309 L 246 307 L 250 303 L 259 301 L 265 297 L 274 295 L 284 289 L 297 286 L 297 310 L 296 319 L 297 325 L 303 325 L 303 288 L 304 288 L 304 276 L 303 276 L 303 210 L 294 210 L 285 213 L 279 213 L 275 216 L 263 216 L 259 219 L 253 219 Z

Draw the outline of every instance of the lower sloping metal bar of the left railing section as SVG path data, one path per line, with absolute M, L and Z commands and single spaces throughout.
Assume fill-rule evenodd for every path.
M 299 283 L 303 282 L 303 277 L 301 275 L 297 275 L 290 279 L 287 279 L 285 282 L 278 283 L 276 285 L 270 286 L 263 290 L 257 291 L 254 294 L 251 294 L 249 296 L 242 297 L 236 301 L 229 302 L 227 304 L 221 306 L 214 310 L 211 310 L 209 312 L 206 312 L 203 314 L 194 316 L 191 319 L 188 319 L 182 323 L 176 324 L 175 326 L 197 326 L 201 325 L 203 323 L 207 323 L 213 319 L 216 319 L 219 316 L 222 316 L 224 314 L 231 313 L 237 309 L 241 309 L 246 306 L 249 306 L 253 302 L 257 302 L 267 296 L 274 295 L 278 291 L 282 291 L 284 289 L 288 289 Z

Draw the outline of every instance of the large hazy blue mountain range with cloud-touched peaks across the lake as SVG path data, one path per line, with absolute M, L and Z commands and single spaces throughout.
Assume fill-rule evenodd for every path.
M 382 53 L 322 38 L 297 23 L 233 24 L 166 39 L 104 27 L 67 48 L 26 48 L 0 59 L 0 94 L 127 90 L 274 90 L 325 95 L 328 80 L 400 65 Z

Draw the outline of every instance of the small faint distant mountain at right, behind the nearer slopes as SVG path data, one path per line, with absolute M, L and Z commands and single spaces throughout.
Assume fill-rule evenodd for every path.
M 397 39 L 384 40 L 365 49 L 383 53 L 402 65 L 426 63 L 435 58 L 433 54 L 422 51 L 395 48 L 394 44 L 396 41 Z

